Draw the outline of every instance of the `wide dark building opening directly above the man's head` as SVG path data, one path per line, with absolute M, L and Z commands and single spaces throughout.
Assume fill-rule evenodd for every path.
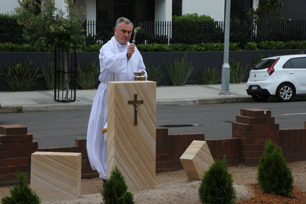
M 97 0 L 97 20 L 155 20 L 155 0 Z

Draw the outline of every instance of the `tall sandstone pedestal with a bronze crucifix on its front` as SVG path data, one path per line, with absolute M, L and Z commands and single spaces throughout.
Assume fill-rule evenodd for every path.
M 107 110 L 107 177 L 117 166 L 129 191 L 155 189 L 156 82 L 109 82 Z

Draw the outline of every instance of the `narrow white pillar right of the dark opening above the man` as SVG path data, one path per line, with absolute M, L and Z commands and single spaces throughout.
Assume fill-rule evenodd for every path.
M 155 20 L 156 21 L 172 20 L 172 0 L 155 1 Z

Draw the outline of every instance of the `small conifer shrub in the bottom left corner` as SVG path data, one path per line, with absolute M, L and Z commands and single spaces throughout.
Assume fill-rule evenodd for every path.
M 2 204 L 39 204 L 41 199 L 36 192 L 29 187 L 24 180 L 28 179 L 27 174 L 17 171 L 18 184 L 10 189 L 10 196 L 1 199 Z

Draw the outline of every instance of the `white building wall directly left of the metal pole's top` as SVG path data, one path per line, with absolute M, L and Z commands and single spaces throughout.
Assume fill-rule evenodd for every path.
M 198 15 L 208 15 L 216 21 L 223 21 L 224 6 L 225 0 L 183 0 L 182 15 L 197 13 Z

